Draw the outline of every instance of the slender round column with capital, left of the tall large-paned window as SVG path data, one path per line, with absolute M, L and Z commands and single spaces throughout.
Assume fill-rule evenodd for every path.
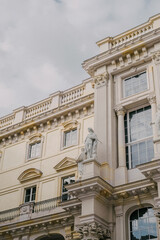
M 127 183 L 124 115 L 125 109 L 119 105 L 115 109 L 118 116 L 118 168 L 115 170 L 115 184 Z

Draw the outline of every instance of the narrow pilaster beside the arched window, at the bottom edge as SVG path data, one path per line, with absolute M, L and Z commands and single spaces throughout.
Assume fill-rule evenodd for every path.
M 116 213 L 116 239 L 124 240 L 125 232 L 124 232 L 123 206 L 115 207 L 115 213 Z

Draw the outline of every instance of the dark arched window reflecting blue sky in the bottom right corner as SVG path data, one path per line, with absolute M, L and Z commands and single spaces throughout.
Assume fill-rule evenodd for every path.
M 157 239 L 156 217 L 151 207 L 140 208 L 130 215 L 130 240 Z

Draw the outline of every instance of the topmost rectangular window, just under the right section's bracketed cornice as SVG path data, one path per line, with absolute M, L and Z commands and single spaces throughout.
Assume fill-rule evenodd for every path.
M 124 97 L 142 92 L 148 88 L 146 72 L 123 80 Z

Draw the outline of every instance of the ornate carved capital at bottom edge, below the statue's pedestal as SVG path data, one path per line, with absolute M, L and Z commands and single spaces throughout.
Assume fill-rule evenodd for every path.
M 76 230 L 80 239 L 111 239 L 111 231 L 107 228 L 104 229 L 98 223 L 90 223 L 79 226 Z

